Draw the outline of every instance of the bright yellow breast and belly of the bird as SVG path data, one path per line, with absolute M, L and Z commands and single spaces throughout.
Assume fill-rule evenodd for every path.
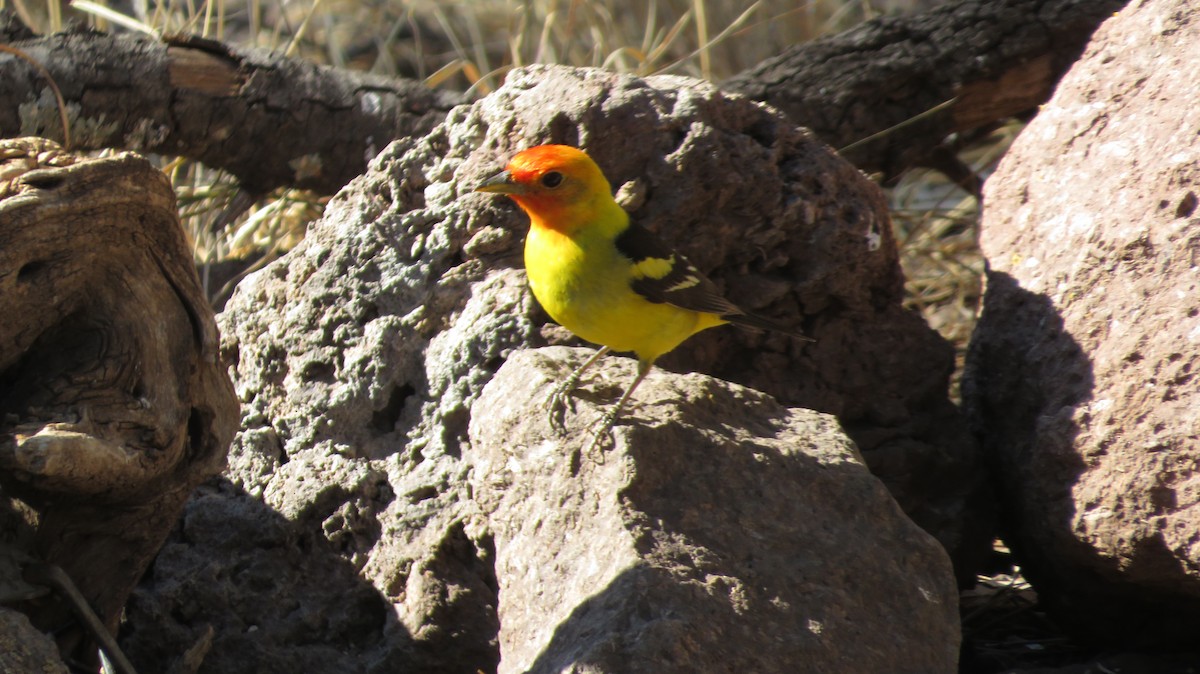
M 635 293 L 632 260 L 618 252 L 612 236 L 605 228 L 570 234 L 530 228 L 524 248 L 529 285 L 558 324 L 588 342 L 653 362 L 696 332 L 722 323 Z

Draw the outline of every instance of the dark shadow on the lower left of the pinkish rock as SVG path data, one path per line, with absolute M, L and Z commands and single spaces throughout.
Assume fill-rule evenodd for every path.
M 1006 542 L 1040 602 L 1081 638 L 1096 645 L 1183 643 L 1200 630 L 1200 601 L 1188 608 L 1172 583 L 1156 591 L 1121 580 L 1153 573 L 1188 582 L 1162 537 L 1142 538 L 1128 559 L 1085 542 L 1097 520 L 1114 514 L 1080 487 L 1106 453 L 1103 443 L 1080 438 L 1081 425 L 1104 407 L 1093 402 L 1094 384 L 1093 363 L 1054 302 L 1007 273 L 989 272 L 964 399 L 991 461 Z

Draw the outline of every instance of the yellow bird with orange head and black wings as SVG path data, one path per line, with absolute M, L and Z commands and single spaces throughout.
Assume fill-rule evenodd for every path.
M 600 345 L 554 389 L 551 425 L 588 367 L 610 351 L 637 356 L 637 375 L 602 416 L 589 452 L 608 437 L 654 361 L 692 335 L 734 324 L 811 341 L 743 311 L 685 257 L 631 219 L 583 150 L 522 150 L 475 192 L 508 197 L 524 211 L 524 265 L 534 297 L 556 323 Z

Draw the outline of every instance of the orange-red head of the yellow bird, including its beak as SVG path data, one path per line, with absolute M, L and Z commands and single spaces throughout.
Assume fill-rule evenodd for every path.
M 566 145 L 538 145 L 518 152 L 503 171 L 475 188 L 505 194 L 529 215 L 534 227 L 563 229 L 612 188 L 586 152 Z

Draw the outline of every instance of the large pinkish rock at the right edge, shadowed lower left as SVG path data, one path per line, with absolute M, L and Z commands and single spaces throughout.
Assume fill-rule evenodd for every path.
M 1132 4 L 988 181 L 966 398 L 1024 571 L 1108 644 L 1200 633 L 1198 43 Z

